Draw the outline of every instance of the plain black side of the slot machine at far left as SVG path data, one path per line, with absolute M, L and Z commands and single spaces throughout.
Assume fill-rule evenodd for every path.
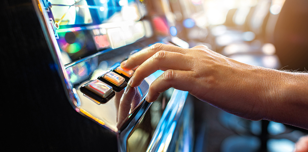
M 4 0 L 0 7 L 1 148 L 117 151 L 115 134 L 68 102 L 32 2 Z

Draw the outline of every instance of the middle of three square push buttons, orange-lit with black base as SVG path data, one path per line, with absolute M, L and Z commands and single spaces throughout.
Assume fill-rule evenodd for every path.
M 112 86 L 112 89 L 115 90 L 116 92 L 120 92 L 127 86 L 125 78 L 112 71 L 107 72 L 102 76 L 99 76 L 98 79 Z

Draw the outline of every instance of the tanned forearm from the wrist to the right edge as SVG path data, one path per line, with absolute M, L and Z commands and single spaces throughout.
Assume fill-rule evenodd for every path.
M 308 129 L 308 74 L 278 70 L 269 73 L 264 119 Z

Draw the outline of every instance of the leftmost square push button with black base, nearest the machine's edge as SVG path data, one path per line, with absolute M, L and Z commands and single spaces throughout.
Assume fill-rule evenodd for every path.
M 81 86 L 80 91 L 99 103 L 106 103 L 115 95 L 111 86 L 99 80 L 92 80 Z

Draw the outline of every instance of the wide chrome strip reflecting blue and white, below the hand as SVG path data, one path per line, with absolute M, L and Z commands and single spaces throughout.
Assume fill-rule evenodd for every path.
M 156 127 L 147 152 L 165 152 L 168 150 L 177 122 L 180 119 L 187 95 L 187 91 L 173 91 L 171 99 L 169 100 L 166 109 L 160 118 L 160 122 Z

